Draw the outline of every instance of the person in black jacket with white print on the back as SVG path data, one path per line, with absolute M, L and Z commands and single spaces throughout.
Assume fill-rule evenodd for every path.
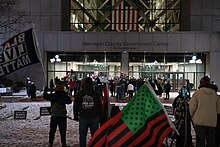
M 93 136 L 101 123 L 102 99 L 100 94 L 95 91 L 90 77 L 85 78 L 82 82 L 82 90 L 76 95 L 73 110 L 74 120 L 79 121 L 80 147 L 86 147 L 88 128 Z

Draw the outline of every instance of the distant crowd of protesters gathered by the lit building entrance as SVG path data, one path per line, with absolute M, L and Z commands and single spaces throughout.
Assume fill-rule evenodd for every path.
M 101 80 L 105 79 L 105 82 L 101 82 Z M 49 88 L 50 91 L 53 92 L 55 88 L 55 83 L 58 77 L 55 80 L 51 79 Z M 110 92 L 110 97 L 115 97 L 115 99 L 120 102 L 125 97 L 128 97 L 130 100 L 132 96 L 137 92 L 137 90 L 141 87 L 141 85 L 148 81 L 155 91 L 156 95 L 159 97 L 164 96 L 165 100 L 169 100 L 170 91 L 172 85 L 169 80 L 158 79 L 143 79 L 143 78 L 127 78 L 127 77 L 115 77 L 111 79 L 107 79 L 105 77 L 96 77 L 92 78 L 94 83 L 95 90 L 102 95 L 104 90 L 104 83 L 108 83 L 108 88 Z M 76 93 L 82 89 L 81 82 L 82 80 L 77 79 L 77 77 L 70 78 L 68 80 L 62 80 L 64 83 L 64 91 L 66 91 L 70 97 L 74 97 Z M 190 89 L 189 89 L 190 90 Z M 164 94 L 164 95 L 163 95 Z

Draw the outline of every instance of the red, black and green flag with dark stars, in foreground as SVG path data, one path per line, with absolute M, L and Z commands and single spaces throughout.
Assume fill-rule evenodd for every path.
M 159 147 L 173 128 L 152 88 L 143 84 L 122 112 L 95 132 L 89 146 Z

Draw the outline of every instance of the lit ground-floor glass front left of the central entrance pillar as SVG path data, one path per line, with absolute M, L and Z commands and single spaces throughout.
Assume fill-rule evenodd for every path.
M 59 59 L 57 59 L 59 57 Z M 48 80 L 72 77 L 108 76 L 121 73 L 121 53 L 51 53 L 48 52 Z

